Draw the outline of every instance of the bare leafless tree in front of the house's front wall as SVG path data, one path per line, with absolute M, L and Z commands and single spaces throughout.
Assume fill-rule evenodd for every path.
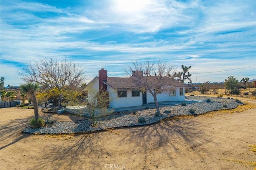
M 150 61 L 150 59 L 146 59 L 144 62 L 139 62 L 137 60 L 126 68 L 127 75 L 130 75 L 131 72 L 138 73 L 131 76 L 132 80 L 134 80 L 134 83 L 138 84 L 142 90 L 150 92 L 154 97 L 157 113 L 160 114 L 156 96 L 158 93 L 164 92 L 167 88 L 170 88 L 165 82 L 174 80 L 168 78 L 168 75 L 172 75 L 175 72 L 174 65 L 166 61 Z M 174 80 L 174 82 L 175 81 L 176 80 Z

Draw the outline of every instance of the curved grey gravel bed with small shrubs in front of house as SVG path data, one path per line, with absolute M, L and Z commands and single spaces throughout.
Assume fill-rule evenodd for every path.
M 189 100 L 203 100 L 203 102 L 187 104 L 187 106 L 170 106 L 161 107 L 161 115 L 155 117 L 156 109 L 140 109 L 134 111 L 121 111 L 118 113 L 113 113 L 112 115 L 102 118 L 97 127 L 90 126 L 90 120 L 80 120 L 80 121 L 58 121 L 50 126 L 42 127 L 39 129 L 32 129 L 31 127 L 26 127 L 24 133 L 36 133 L 36 134 L 68 134 L 68 133 L 89 133 L 93 131 L 100 131 L 104 129 L 110 129 L 115 127 L 126 127 L 126 126 L 138 126 L 147 125 L 160 121 L 161 119 L 167 117 L 173 117 L 176 115 L 199 115 L 207 113 L 209 111 L 220 110 L 220 109 L 234 109 L 242 103 L 238 103 L 232 99 L 226 98 L 212 98 L 204 96 L 186 96 Z M 206 102 L 210 99 L 211 102 Z M 223 107 L 226 105 L 227 107 Z M 189 109 L 195 109 L 195 113 L 190 113 Z M 139 123 L 138 117 L 144 116 L 146 122 Z

